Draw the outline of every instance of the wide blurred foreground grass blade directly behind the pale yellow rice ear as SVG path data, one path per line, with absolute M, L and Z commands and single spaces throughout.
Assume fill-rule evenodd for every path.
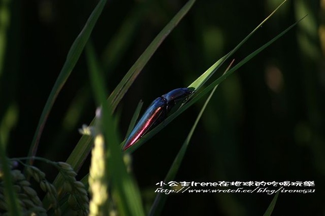
M 87 49 L 91 49 L 90 44 Z M 112 118 L 111 107 L 106 101 L 104 79 L 99 70 L 91 64 L 90 81 L 97 104 L 102 105 L 101 124 L 106 148 L 106 174 L 113 191 L 114 201 L 120 215 L 144 215 L 139 189 L 127 174 L 122 152 L 118 145 L 117 131 Z M 108 184 L 108 183 L 107 183 Z M 107 187 L 108 188 L 108 187 Z

